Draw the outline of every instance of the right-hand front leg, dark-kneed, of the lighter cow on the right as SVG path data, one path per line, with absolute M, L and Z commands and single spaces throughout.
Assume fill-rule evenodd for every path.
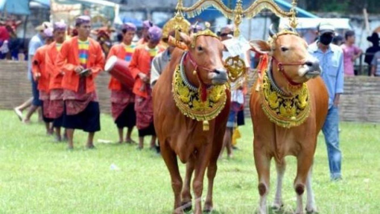
M 302 195 L 305 191 L 307 174 L 313 163 L 313 153 L 302 151 L 297 157 L 297 176 L 294 180 L 294 189 L 296 190 L 297 208 L 296 214 L 303 214 Z

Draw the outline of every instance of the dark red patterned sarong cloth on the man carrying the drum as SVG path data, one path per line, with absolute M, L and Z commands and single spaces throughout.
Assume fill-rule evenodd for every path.
M 130 104 L 135 102 L 135 95 L 128 90 L 112 90 L 111 91 L 111 113 L 112 118 L 116 120 L 123 110 Z

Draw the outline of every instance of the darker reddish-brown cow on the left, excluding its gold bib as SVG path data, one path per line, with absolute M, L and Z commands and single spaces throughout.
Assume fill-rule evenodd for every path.
M 227 89 L 226 103 L 216 118 L 209 121 L 209 131 L 204 123 L 181 113 L 173 99 L 173 73 L 183 62 L 185 77 L 190 85 L 199 87 L 199 78 L 204 85 L 216 87 L 227 81 L 222 62 L 223 45 L 215 36 L 199 35 L 189 38 L 181 35 L 188 46 L 188 52 L 174 50 L 171 61 L 161 74 L 153 89 L 154 126 L 160 142 L 161 155 L 170 172 L 174 192 L 174 213 L 188 211 L 192 207 L 190 180 L 193 179 L 195 195 L 194 213 L 200 214 L 203 177 L 207 168 L 208 190 L 205 211 L 212 209 L 212 188 L 217 171 L 217 159 L 222 147 L 223 134 L 230 109 L 230 92 Z M 190 54 L 190 55 L 189 55 Z M 183 58 L 182 58 L 183 57 Z M 186 164 L 184 185 L 179 173 L 177 156 Z M 182 189 L 183 187 L 183 189 Z M 182 190 L 182 194 L 181 194 Z

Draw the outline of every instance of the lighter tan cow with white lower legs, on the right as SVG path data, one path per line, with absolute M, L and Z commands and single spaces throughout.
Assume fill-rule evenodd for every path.
M 297 175 L 294 180 L 294 189 L 297 196 L 296 213 L 304 213 L 302 194 L 305 186 L 307 188 L 306 211 L 315 212 L 316 207 L 311 187 L 312 164 L 317 145 L 317 136 L 323 126 L 328 110 L 328 94 L 323 80 L 318 76 L 320 74 L 319 62 L 308 53 L 307 43 L 298 34 L 291 31 L 282 31 L 279 34 L 271 35 L 272 40 L 269 43 L 261 40 L 250 42 L 252 50 L 269 55 L 269 68 L 266 71 L 262 70 L 261 77 L 264 80 L 259 78 L 252 88 L 250 98 L 254 132 L 253 154 L 258 173 L 258 190 L 260 194 L 258 212 L 260 214 L 266 213 L 266 197 L 269 192 L 269 172 L 272 157 L 275 159 L 277 169 L 277 190 L 273 208 L 279 209 L 283 206 L 281 187 L 282 177 L 285 172 L 284 157 L 287 155 L 293 155 L 297 158 Z M 262 60 L 265 61 L 265 57 Z M 264 67 L 268 66 L 264 65 Z M 309 101 L 308 109 L 310 113 L 308 117 L 306 113 L 306 117 L 298 121 L 297 124 L 298 119 L 294 116 L 295 112 L 291 113 L 290 116 L 287 115 L 289 120 L 286 117 L 276 120 L 276 116 L 268 116 L 271 115 L 268 114 L 271 111 L 266 108 L 268 106 L 272 109 L 279 109 L 279 111 L 275 112 L 277 115 L 281 114 L 281 112 L 285 112 L 282 116 L 286 115 L 284 109 L 292 103 L 284 102 L 281 104 L 281 102 L 291 100 L 288 97 L 294 97 L 301 90 L 303 83 L 306 84 L 304 88 L 309 90 L 309 98 L 308 100 L 302 100 L 302 98 L 293 99 L 293 104 L 294 101 L 297 102 L 294 105 L 298 108 L 297 112 L 304 112 L 302 108 L 307 109 L 306 103 Z M 266 89 L 269 88 L 271 90 L 267 91 Z M 277 91 L 277 93 L 274 93 L 274 91 Z M 263 98 L 265 93 L 271 96 L 268 96 L 267 99 L 270 100 L 268 101 L 269 105 L 265 104 L 266 99 Z M 284 96 L 277 96 L 276 94 Z M 305 98 L 305 96 L 298 95 L 298 98 L 300 97 Z M 302 105 L 302 103 L 306 105 Z

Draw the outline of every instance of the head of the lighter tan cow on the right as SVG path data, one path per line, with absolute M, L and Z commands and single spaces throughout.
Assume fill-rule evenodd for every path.
M 307 51 L 307 43 L 296 32 L 269 30 L 269 42 L 252 40 L 251 50 L 272 56 L 273 72 L 279 71 L 291 85 L 304 83 L 321 73 L 318 59 Z

